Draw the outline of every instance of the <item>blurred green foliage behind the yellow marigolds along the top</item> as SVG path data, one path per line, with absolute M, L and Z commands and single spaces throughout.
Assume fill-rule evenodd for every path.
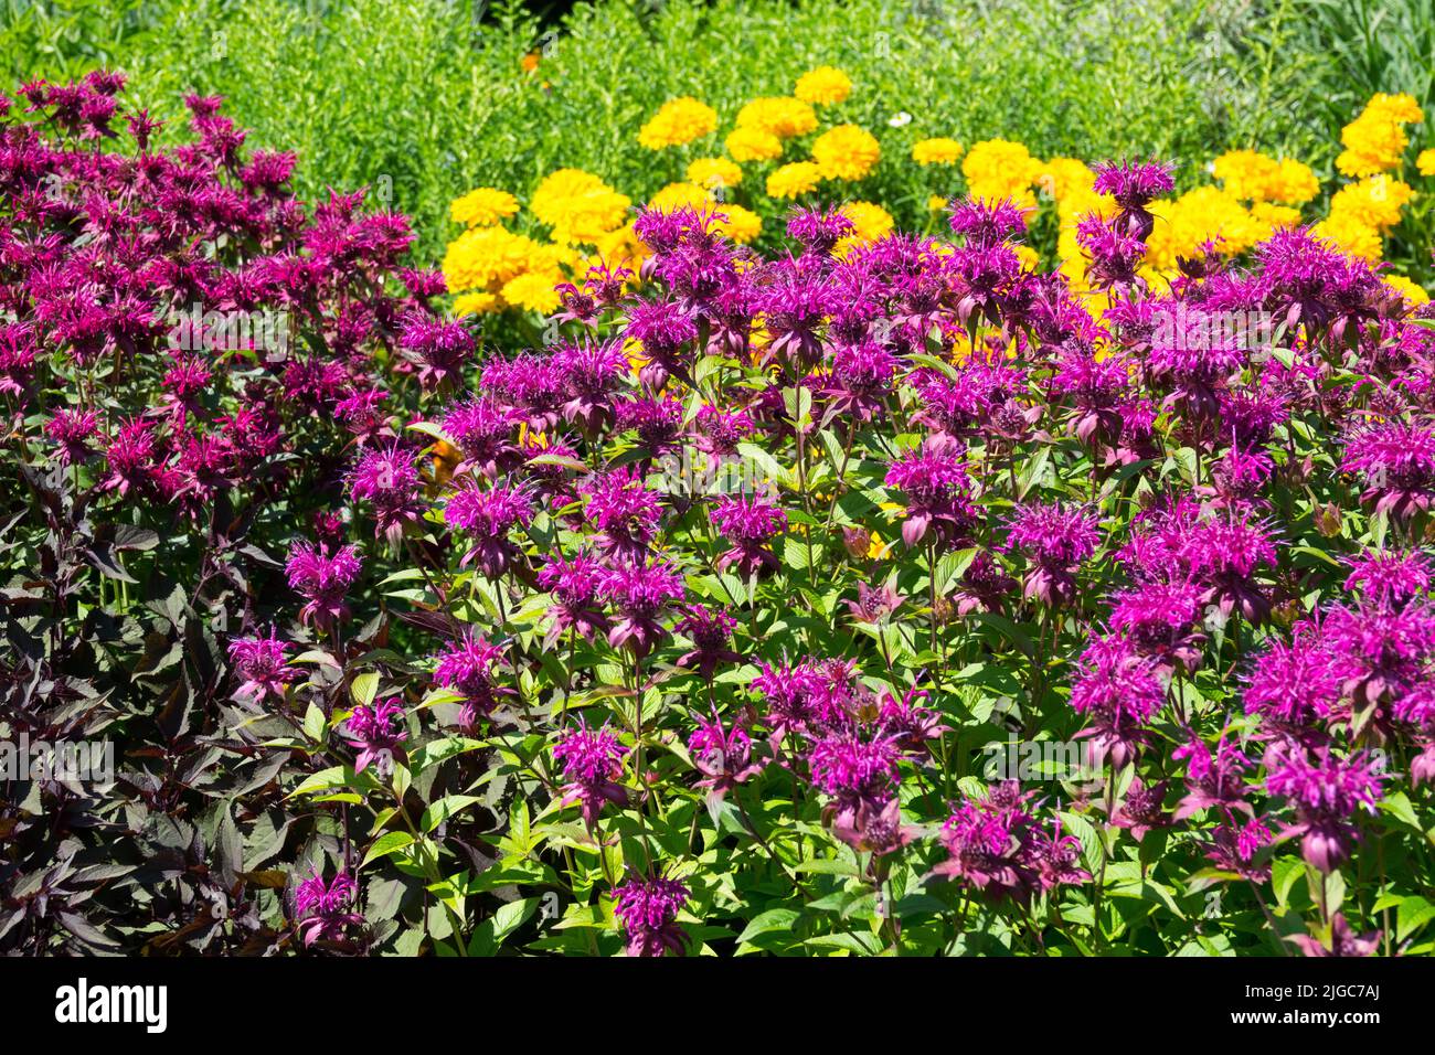
M 872 129 L 888 156 L 926 136 L 1006 138 L 1042 158 L 1177 159 L 1191 185 L 1215 154 L 1253 146 L 1329 179 L 1340 126 L 1372 92 L 1431 105 L 1432 4 L 0 0 L 0 63 L 11 83 L 122 69 L 131 102 L 172 119 L 171 136 L 182 95 L 224 95 L 251 145 L 298 151 L 301 194 L 369 185 L 416 218 L 436 258 L 448 202 L 468 188 L 525 198 L 578 167 L 640 201 L 718 152 L 743 102 L 791 93 L 822 63 L 855 83 L 832 119 Z M 677 95 L 715 106 L 719 135 L 644 151 L 639 125 Z M 1413 138 L 1412 156 L 1426 145 L 1422 129 Z M 861 192 L 921 227 L 933 189 L 960 189 L 933 179 L 883 165 Z

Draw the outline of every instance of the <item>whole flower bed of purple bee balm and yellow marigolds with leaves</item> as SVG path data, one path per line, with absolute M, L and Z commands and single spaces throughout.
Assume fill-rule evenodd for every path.
M 1431 952 L 1413 99 L 1316 215 L 1253 151 L 894 156 L 821 66 L 426 270 L 123 86 L 0 113 L 0 722 L 113 752 L 11 771 L 0 949 Z

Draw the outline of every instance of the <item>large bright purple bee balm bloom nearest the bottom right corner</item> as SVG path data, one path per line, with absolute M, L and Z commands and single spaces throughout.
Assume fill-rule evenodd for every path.
M 1330 873 L 1350 855 L 1358 837 L 1350 817 L 1359 810 L 1376 811 L 1385 775 L 1365 752 L 1340 758 L 1329 748 L 1317 748 L 1313 755 L 1314 761 L 1299 746 L 1283 752 L 1266 777 L 1266 791 L 1296 808 L 1296 824 L 1280 837 L 1302 835 L 1306 861 Z

